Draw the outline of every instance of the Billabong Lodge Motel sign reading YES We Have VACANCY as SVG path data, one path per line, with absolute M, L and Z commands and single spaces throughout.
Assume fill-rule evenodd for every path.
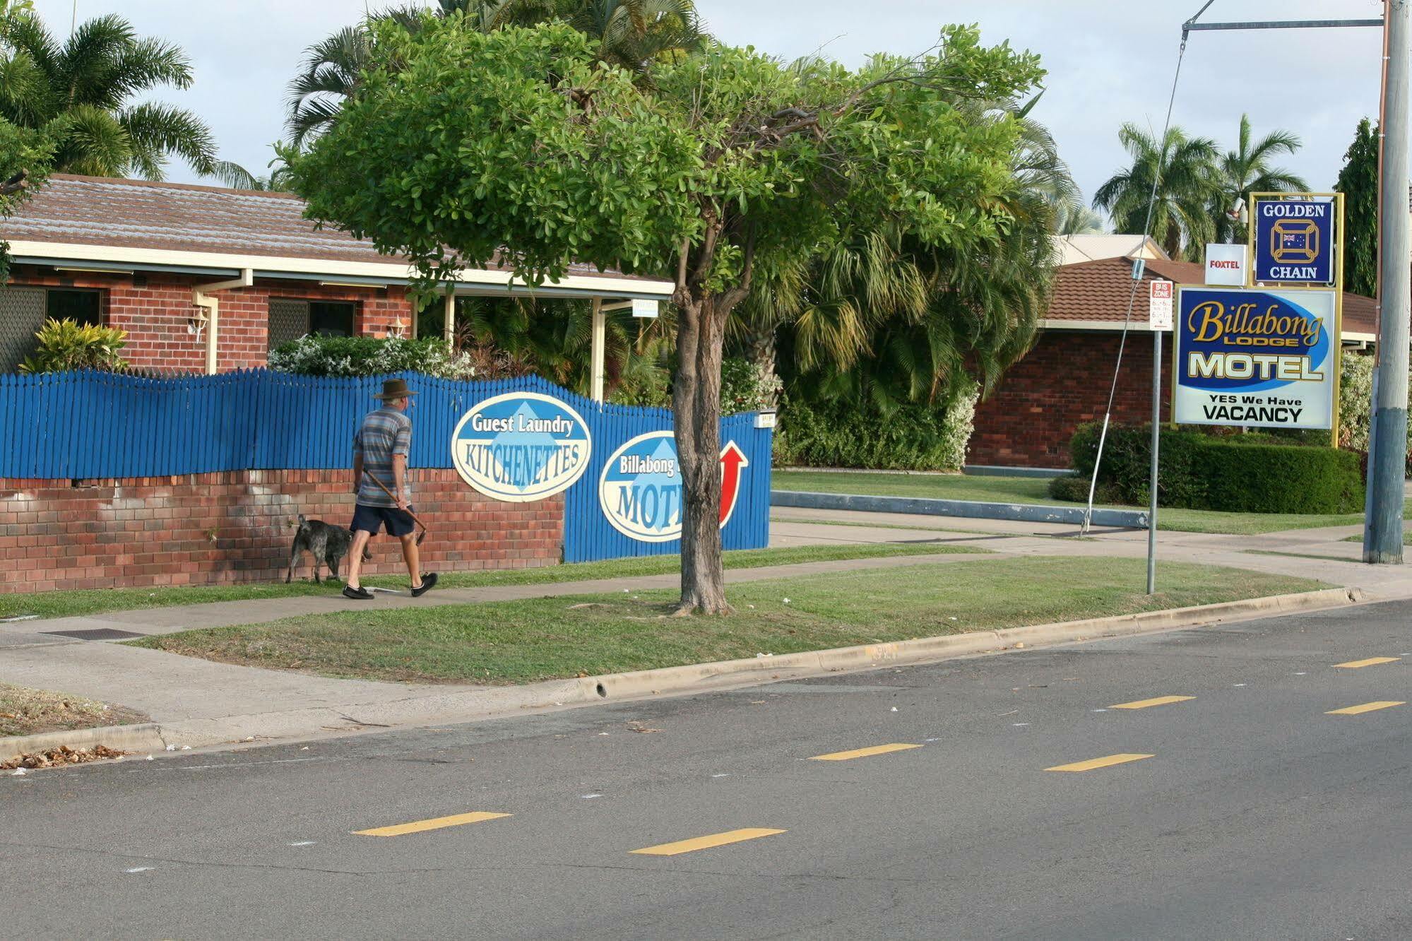
M 1334 292 L 1179 287 L 1172 420 L 1332 428 Z

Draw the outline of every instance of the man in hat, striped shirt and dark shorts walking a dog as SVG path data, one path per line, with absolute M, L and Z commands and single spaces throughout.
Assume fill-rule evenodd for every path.
M 401 379 L 384 380 L 383 394 L 374 396 L 383 401 L 383 407 L 367 413 L 353 437 L 353 492 L 357 493 L 357 506 L 353 509 L 353 526 L 349 527 L 353 530 L 353 548 L 349 555 L 349 581 L 343 586 L 345 598 L 367 600 L 373 596 L 359 581 L 359 572 L 367 541 L 384 526 L 388 535 L 395 535 L 402 544 L 407 574 L 412 579 L 412 596 L 425 595 L 436 584 L 436 572 L 421 572 L 417 535 L 412 533 L 415 524 L 408 513 L 412 489 L 407 483 L 407 455 L 412 449 L 412 420 L 407 417 L 407 410 L 412 407 L 415 394 Z

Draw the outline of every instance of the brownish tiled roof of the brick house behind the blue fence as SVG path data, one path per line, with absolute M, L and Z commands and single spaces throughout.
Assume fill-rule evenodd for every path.
M 405 261 L 378 254 L 370 242 L 346 232 L 315 229 L 304 218 L 304 205 L 299 196 L 284 192 L 55 174 L 0 222 L 0 237 L 281 259 Z M 589 264 L 573 264 L 569 273 L 604 274 Z

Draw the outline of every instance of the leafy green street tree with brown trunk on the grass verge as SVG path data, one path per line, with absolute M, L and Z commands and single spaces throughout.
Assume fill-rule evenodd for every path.
M 376 66 L 308 153 L 284 148 L 319 220 L 409 257 L 428 284 L 498 259 L 541 283 L 570 260 L 671 277 L 685 487 L 685 612 L 729 610 L 720 557 L 720 360 L 757 264 L 894 222 L 919 246 L 1001 243 L 1012 100 L 1038 58 L 949 27 L 932 52 L 857 71 L 709 45 L 650 88 L 565 24 L 480 32 L 384 23 Z

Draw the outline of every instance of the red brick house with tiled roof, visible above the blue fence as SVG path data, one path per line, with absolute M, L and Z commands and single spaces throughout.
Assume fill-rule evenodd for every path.
M 292 194 L 56 174 L 0 237 L 16 261 L 0 287 L 0 373 L 48 316 L 121 328 L 134 366 L 178 372 L 264 366 L 305 333 L 418 335 L 405 259 L 315 229 Z M 455 285 L 618 302 L 671 288 L 589 266 L 534 291 L 496 267 L 460 271 Z M 449 333 L 453 307 L 438 314 Z

